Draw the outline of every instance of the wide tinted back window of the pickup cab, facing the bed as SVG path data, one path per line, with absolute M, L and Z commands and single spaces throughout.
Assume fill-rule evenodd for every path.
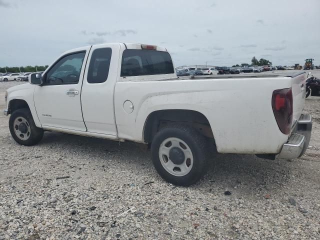
M 142 76 L 174 73 L 166 51 L 126 49 L 122 54 L 120 76 Z

